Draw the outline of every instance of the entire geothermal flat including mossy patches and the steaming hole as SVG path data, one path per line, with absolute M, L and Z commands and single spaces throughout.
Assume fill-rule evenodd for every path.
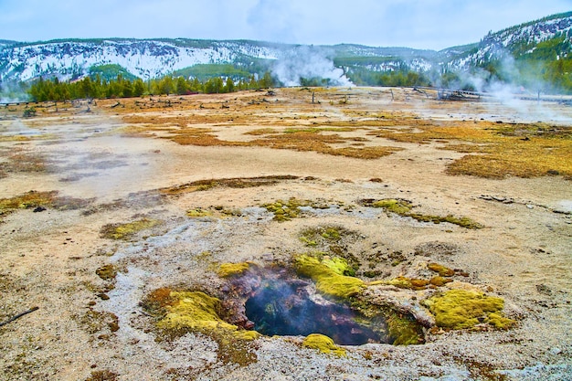
M 572 379 L 572 109 L 514 104 L 0 109 L 0 379 Z

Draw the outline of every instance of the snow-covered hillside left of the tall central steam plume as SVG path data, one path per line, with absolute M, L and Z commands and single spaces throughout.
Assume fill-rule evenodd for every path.
M 120 65 L 149 79 L 196 64 L 233 63 L 242 56 L 276 59 L 280 53 L 276 48 L 232 41 L 213 41 L 207 47 L 185 46 L 177 40 L 54 41 L 1 51 L 0 79 L 52 75 L 71 79 L 85 75 L 92 66 L 106 64 Z

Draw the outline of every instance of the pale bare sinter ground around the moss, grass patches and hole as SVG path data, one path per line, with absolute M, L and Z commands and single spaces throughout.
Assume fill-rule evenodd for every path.
M 315 104 L 310 92 L 298 89 L 276 90 L 273 96 L 172 96 L 169 100 L 180 104 L 144 112 L 190 123 L 197 123 L 197 116 L 216 115 L 219 122 L 198 127 L 234 142 L 256 138 L 244 132 L 285 128 L 288 123 L 281 118 L 305 127 L 360 118 L 348 111 L 407 111 L 435 121 L 543 121 L 565 129 L 572 121 L 570 107 L 556 103 L 521 102 L 515 108 L 494 100 L 436 101 L 408 89 L 393 89 L 393 94 L 394 101 L 388 89 L 327 90 L 316 93 L 321 102 Z M 253 100 L 258 104 L 249 105 Z M 465 153 L 440 150 L 440 142 L 375 138 L 367 134 L 366 123 L 363 130 L 335 133 L 365 138 L 355 142 L 366 146 L 403 150 L 364 160 L 269 147 L 179 145 L 123 134 L 123 127 L 132 126 L 124 117 L 137 111 L 112 108 L 116 101 L 98 102 L 90 112 L 85 102 L 77 108 L 60 103 L 58 111 L 48 105 L 30 119 L 19 118 L 23 105 L 0 110 L 1 163 L 22 153 L 47 165 L 40 172 L 6 170 L 0 198 L 35 190 L 89 201 L 71 210 L 19 209 L 0 223 L 0 321 L 39 307 L 0 327 L 0 379 L 572 379 L 572 183 L 562 175 L 502 180 L 446 175 L 446 166 Z M 196 180 L 264 175 L 299 178 L 153 196 L 154 190 Z M 341 207 L 314 209 L 286 222 L 273 221 L 260 207 L 291 197 Z M 485 228 L 389 215 L 358 206 L 365 198 L 404 198 L 423 214 L 466 216 Z M 189 209 L 209 206 L 240 209 L 242 215 L 186 215 Z M 163 223 L 132 240 L 101 238 L 106 224 L 141 217 Z M 362 276 L 364 280 L 419 277 L 427 275 L 428 262 L 439 262 L 469 275 L 453 277 L 446 288 L 501 296 L 504 312 L 517 320 L 516 326 L 440 331 L 428 334 L 428 343 L 421 345 L 350 346 L 346 357 L 302 348 L 302 338 L 262 337 L 251 344 L 257 360 L 249 365 L 222 361 L 217 343 L 204 334 L 155 340 L 154 319 L 140 305 L 144 295 L 160 287 L 216 293 L 222 280 L 212 263 L 288 261 L 308 250 L 298 238 L 303 228 L 332 224 L 359 234 L 350 249 L 364 266 L 378 252 L 403 256 L 397 265 L 376 263 L 378 275 Z M 119 269 L 113 290 L 110 281 L 96 274 L 110 263 Z M 416 296 L 422 299 L 430 292 Z

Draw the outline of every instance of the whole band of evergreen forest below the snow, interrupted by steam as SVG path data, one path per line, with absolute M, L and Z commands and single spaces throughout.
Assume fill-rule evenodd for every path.
M 531 92 L 572 94 L 572 31 L 540 43 L 515 44 L 507 57 L 487 60 L 469 70 L 431 70 L 418 72 L 406 65 L 379 71 L 352 65 L 354 58 L 338 59 L 345 76 L 357 86 L 434 86 L 456 90 L 487 90 L 492 84 L 510 83 Z M 357 59 L 357 58 L 356 58 Z M 361 60 L 360 60 L 361 59 Z M 371 58 L 367 58 L 370 59 Z M 358 63 L 365 58 L 359 58 Z M 379 58 L 371 63 L 381 65 Z M 474 79 L 478 78 L 479 88 Z M 331 86 L 330 79 L 301 78 L 302 86 Z M 85 98 L 123 98 L 143 95 L 225 93 L 238 90 L 281 86 L 270 72 L 256 76 L 230 65 L 199 65 L 161 79 L 143 81 L 118 65 L 103 65 L 90 70 L 90 76 L 71 81 L 38 79 L 32 84 L 0 84 L 7 98 L 26 91 L 32 101 L 69 101 Z M 27 90 L 26 90 L 27 88 Z

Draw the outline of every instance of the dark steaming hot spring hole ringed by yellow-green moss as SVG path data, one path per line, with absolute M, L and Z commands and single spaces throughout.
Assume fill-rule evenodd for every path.
M 303 280 L 262 280 L 245 307 L 254 329 L 270 336 L 322 333 L 342 345 L 391 341 L 383 318 L 367 320 L 347 305 L 324 299 Z

